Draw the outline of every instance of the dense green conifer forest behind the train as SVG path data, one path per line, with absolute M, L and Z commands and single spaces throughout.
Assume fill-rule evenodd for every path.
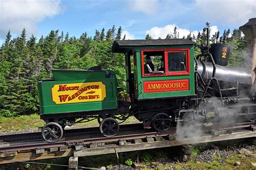
M 210 23 L 206 23 L 206 27 L 210 27 Z M 122 27 L 116 31 L 114 25 L 106 32 L 104 28 L 96 30 L 93 37 L 84 32 L 79 38 L 59 30 L 51 30 L 45 37 L 36 38 L 33 34 L 28 37 L 25 28 L 17 38 L 12 38 L 9 31 L 0 48 L 0 119 L 39 113 L 37 82 L 51 79 L 52 69 L 86 69 L 100 65 L 102 69 L 114 70 L 118 86 L 126 89 L 124 55 L 111 52 L 113 41 L 121 40 L 121 34 Z M 190 37 L 196 45 L 206 44 L 206 28 L 198 35 L 190 33 L 179 37 L 175 27 L 166 35 L 166 39 Z M 216 38 L 214 33 L 210 43 L 216 42 Z M 152 37 L 147 34 L 145 39 Z M 228 65 L 243 67 L 247 39 L 241 31 L 227 29 L 218 42 L 231 48 Z M 195 51 L 200 53 L 197 47 Z M 126 95 L 126 91 L 122 95 Z

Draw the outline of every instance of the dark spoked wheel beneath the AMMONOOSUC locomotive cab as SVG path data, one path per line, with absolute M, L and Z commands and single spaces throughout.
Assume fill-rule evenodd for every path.
M 154 130 L 158 132 L 166 131 L 171 126 L 171 118 L 164 113 L 157 114 L 153 118 L 152 125 Z

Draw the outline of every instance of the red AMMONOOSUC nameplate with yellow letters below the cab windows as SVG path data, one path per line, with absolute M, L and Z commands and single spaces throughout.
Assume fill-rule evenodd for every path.
M 164 92 L 164 91 L 179 91 L 189 90 L 188 79 L 184 80 L 166 80 L 166 81 L 145 81 L 144 92 Z

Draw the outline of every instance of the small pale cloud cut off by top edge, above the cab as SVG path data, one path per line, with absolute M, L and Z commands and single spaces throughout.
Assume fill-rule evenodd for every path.
M 159 9 L 158 0 L 131 0 L 129 5 L 131 10 L 147 15 L 154 15 Z

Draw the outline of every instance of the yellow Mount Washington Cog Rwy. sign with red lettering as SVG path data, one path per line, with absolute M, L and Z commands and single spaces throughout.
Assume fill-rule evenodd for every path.
M 51 88 L 56 104 L 103 101 L 106 86 L 102 82 L 55 84 Z

